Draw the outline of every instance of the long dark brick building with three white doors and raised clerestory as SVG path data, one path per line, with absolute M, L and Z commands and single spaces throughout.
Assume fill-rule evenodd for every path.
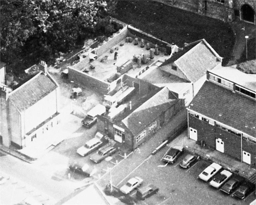
M 256 83 L 234 68 L 207 71 L 207 81 L 188 109 L 192 140 L 255 168 Z

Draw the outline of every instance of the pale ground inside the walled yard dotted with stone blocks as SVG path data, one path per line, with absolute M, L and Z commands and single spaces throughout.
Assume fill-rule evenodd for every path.
M 121 43 L 123 44 L 123 46 L 120 46 Z M 113 49 L 114 52 L 110 53 L 110 49 Z M 114 60 L 115 52 L 117 52 L 116 60 Z M 92 62 L 90 62 L 89 60 L 88 53 L 84 53 L 84 55 L 87 56 L 77 64 L 70 67 L 81 71 L 87 70 L 88 72 L 86 72 L 86 74 L 106 81 L 109 77 L 117 73 L 117 66 L 121 66 L 127 63 L 129 60 L 132 60 L 134 55 L 141 54 L 145 54 L 146 57 L 149 57 L 150 50 L 147 50 L 146 46 L 144 48 L 141 48 L 140 45 L 126 43 L 123 39 L 117 42 L 115 46 L 110 47 L 107 52 L 103 53 L 100 56 L 97 56 L 97 59 L 93 60 Z M 153 59 L 150 59 L 149 62 L 146 64 L 141 64 L 141 67 L 138 67 L 138 64 L 136 62 L 133 62 L 133 68 L 127 71 L 126 74 L 131 77 L 135 77 L 143 67 L 152 64 L 154 61 L 162 56 L 164 56 L 164 53 L 159 51 L 159 55 L 154 55 Z M 92 65 L 92 67 L 94 68 L 90 69 L 90 65 Z

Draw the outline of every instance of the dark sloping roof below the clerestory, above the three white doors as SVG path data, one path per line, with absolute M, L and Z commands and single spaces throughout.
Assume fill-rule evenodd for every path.
M 253 99 L 205 81 L 189 109 L 256 137 L 255 105 Z

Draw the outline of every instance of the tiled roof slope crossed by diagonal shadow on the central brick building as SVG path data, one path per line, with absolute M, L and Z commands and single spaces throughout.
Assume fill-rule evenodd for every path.
M 139 132 L 153 122 L 162 111 L 167 110 L 170 104 L 176 102 L 175 96 L 172 96 L 173 99 L 169 99 L 169 92 L 168 88 L 164 87 L 122 120 L 133 135 L 139 134 Z

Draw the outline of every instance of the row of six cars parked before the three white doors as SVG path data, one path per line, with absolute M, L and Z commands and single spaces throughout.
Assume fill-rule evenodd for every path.
M 174 163 L 183 151 L 184 149 L 179 146 L 170 148 L 162 157 L 162 160 L 167 163 Z M 199 155 L 187 154 L 180 162 L 180 166 L 182 168 L 189 168 L 199 159 Z M 198 177 L 203 181 L 210 181 L 209 184 L 215 188 L 221 187 L 220 190 L 226 194 L 231 194 L 235 191 L 232 196 L 244 199 L 252 191 L 251 186 L 241 179 L 231 178 L 232 175 L 230 171 L 223 169 L 222 166 L 213 162 Z

